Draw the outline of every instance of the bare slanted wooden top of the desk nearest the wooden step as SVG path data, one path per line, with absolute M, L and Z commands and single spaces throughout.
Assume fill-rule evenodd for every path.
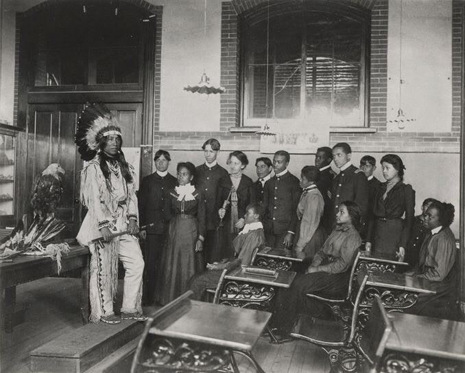
M 152 326 L 150 333 L 236 350 L 252 350 L 271 313 L 190 301 L 190 306 L 168 326 Z

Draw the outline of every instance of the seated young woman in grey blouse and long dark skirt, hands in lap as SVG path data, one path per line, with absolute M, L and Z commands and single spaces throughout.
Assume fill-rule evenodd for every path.
M 361 211 L 352 201 L 339 203 L 337 210 L 337 225 L 313 257 L 310 267 L 304 274 L 296 275 L 290 289 L 278 294 L 276 304 L 281 309 L 274 315 L 274 325 L 284 335 L 291 330 L 298 313 L 322 317 L 324 304 L 307 298 L 307 293 L 341 297 L 347 289 L 348 273 L 361 245 L 358 231 Z

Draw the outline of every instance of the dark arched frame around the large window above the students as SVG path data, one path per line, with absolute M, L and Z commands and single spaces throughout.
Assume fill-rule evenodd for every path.
M 259 8 L 259 9 L 258 9 Z M 282 8 L 282 9 L 281 9 Z M 338 16 L 343 16 L 349 19 L 355 19 L 356 21 L 360 21 L 363 24 L 362 30 L 364 35 L 362 36 L 363 43 L 361 45 L 361 80 L 360 80 L 360 93 L 359 93 L 359 100 L 361 102 L 361 111 L 363 111 L 363 120 L 360 120 L 358 123 L 348 124 L 346 126 L 331 126 L 330 128 L 348 128 L 355 129 L 355 128 L 369 128 L 370 123 L 370 27 L 371 27 L 371 13 L 360 7 L 356 7 L 353 5 L 342 5 L 342 4 L 330 4 L 330 3 L 314 3 L 309 4 L 307 3 L 296 3 L 296 7 L 290 8 L 289 6 L 284 5 L 270 5 L 270 19 L 274 16 L 286 16 L 287 14 L 296 14 L 300 13 L 305 16 L 309 12 L 327 12 L 329 14 L 335 14 Z M 239 128 L 252 128 L 252 127 L 261 127 L 265 124 L 266 119 L 263 118 L 253 118 L 248 117 L 249 113 L 249 100 L 250 100 L 250 77 L 248 75 L 248 63 L 247 58 L 250 56 L 247 55 L 247 41 L 250 27 L 254 24 L 264 21 L 267 17 L 267 6 L 259 5 L 258 7 L 252 8 L 246 14 L 241 14 L 240 16 L 240 32 L 239 41 L 243 41 L 239 43 Z M 301 67 L 300 67 L 300 78 L 301 81 L 305 80 L 305 74 L 302 74 L 302 67 L 305 67 L 306 63 L 304 62 L 305 59 L 302 58 L 304 54 L 306 54 L 306 27 L 303 27 L 305 23 L 302 23 L 300 27 L 302 27 L 301 35 Z M 275 121 L 280 124 L 291 124 L 296 122 L 296 120 L 305 119 L 305 84 L 301 84 L 300 86 L 301 93 L 300 93 L 300 114 L 298 117 L 289 118 L 289 119 L 275 119 L 275 118 L 268 118 L 267 121 Z

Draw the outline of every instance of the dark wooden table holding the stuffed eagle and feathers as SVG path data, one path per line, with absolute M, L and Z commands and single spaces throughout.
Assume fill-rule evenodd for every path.
M 65 273 L 73 269 L 81 270 L 82 306 L 81 314 L 84 324 L 88 322 L 89 300 L 89 251 L 88 247 L 72 246 L 69 253 L 61 258 L 62 269 Z M 0 291 L 3 302 L 0 304 L 0 321 L 6 332 L 12 332 L 14 310 L 16 306 L 16 286 L 58 274 L 56 261 L 46 256 L 16 256 L 12 262 L 0 262 Z

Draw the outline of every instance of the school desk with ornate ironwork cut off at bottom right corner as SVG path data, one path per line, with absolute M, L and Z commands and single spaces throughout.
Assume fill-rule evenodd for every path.
M 464 372 L 465 323 L 389 313 L 392 331 L 380 360 L 381 372 Z M 426 369 L 429 368 L 429 369 Z

